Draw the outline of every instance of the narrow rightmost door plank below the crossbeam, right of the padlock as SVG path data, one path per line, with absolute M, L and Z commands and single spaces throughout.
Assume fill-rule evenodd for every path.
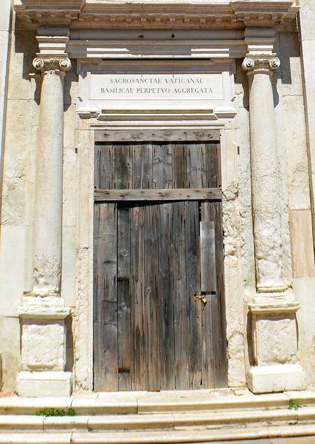
M 216 249 L 216 296 L 212 298 L 212 331 L 214 334 L 214 385 L 228 384 L 228 359 L 225 328 L 224 248 L 222 227 L 222 203 L 208 203 L 209 220 L 214 221 Z

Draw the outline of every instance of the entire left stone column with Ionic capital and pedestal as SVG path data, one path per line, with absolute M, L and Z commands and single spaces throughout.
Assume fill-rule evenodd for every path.
M 71 393 L 66 364 L 65 318 L 71 313 L 60 295 L 62 266 L 62 159 L 64 76 L 71 68 L 66 55 L 68 29 L 38 29 L 40 52 L 34 67 L 41 72 L 34 213 L 34 285 L 18 308 L 22 324 L 22 396 Z M 44 35 L 41 35 L 44 34 Z M 61 35 L 60 35 L 61 34 Z

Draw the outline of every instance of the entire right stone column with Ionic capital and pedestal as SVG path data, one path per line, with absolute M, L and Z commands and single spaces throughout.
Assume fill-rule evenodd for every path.
M 272 71 L 279 68 L 280 61 L 272 52 L 273 29 L 249 28 L 245 36 L 248 54 L 243 68 L 249 80 L 256 268 L 256 294 L 249 304 L 255 366 L 249 371 L 248 387 L 255 393 L 281 392 L 304 388 L 304 373 L 297 361 L 295 313 L 299 304 L 291 282 L 283 278 L 283 196 L 271 82 Z

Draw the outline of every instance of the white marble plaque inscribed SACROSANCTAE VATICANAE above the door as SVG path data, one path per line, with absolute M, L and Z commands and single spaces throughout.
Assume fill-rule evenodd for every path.
M 223 99 L 222 73 L 91 73 L 90 99 Z

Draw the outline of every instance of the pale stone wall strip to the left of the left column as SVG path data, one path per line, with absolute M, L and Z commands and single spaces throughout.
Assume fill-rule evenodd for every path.
M 15 24 L 13 22 L 13 29 Z M 8 64 L 6 141 L 0 250 L 0 343 L 3 389 L 11 391 L 20 366 L 20 324 L 16 308 L 22 292 L 31 289 L 31 245 L 36 164 L 38 90 L 30 80 L 36 51 L 35 34 L 12 32 Z M 35 100 L 34 100 L 35 99 Z

